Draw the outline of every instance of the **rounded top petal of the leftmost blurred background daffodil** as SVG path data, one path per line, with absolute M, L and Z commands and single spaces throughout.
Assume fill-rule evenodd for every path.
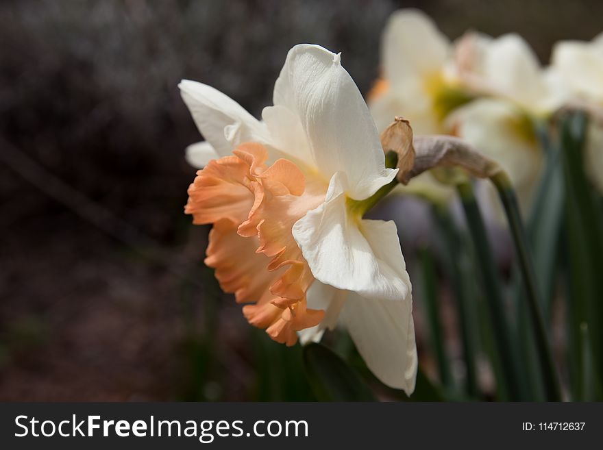
M 434 21 L 419 10 L 399 10 L 391 15 L 382 41 L 385 78 L 393 85 L 404 85 L 441 71 L 450 41 Z

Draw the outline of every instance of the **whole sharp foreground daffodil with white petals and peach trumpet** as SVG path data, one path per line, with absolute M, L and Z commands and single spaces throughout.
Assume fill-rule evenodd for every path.
M 286 345 L 343 323 L 371 371 L 410 394 L 417 352 L 397 230 L 362 218 L 397 171 L 340 55 L 293 47 L 262 121 L 210 86 L 180 90 L 206 138 L 189 150 L 204 168 L 186 212 L 213 224 L 206 264 L 223 290 Z

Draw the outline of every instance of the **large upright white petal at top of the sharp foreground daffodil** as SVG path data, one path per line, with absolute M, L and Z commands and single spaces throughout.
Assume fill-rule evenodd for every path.
M 365 199 L 395 177 L 385 168 L 369 109 L 339 55 L 317 45 L 293 47 L 276 80 L 274 104 L 297 116 L 312 166 L 325 180 L 337 171 L 346 174 L 350 197 Z

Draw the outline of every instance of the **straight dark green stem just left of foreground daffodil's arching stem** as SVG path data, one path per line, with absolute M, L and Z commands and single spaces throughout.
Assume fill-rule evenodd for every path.
M 478 273 L 480 274 L 482 288 L 487 299 L 497 356 L 495 365 L 500 366 L 498 370 L 495 367 L 499 391 L 508 395 L 511 401 L 519 401 L 523 397 L 521 394 L 522 384 L 519 377 L 519 368 L 511 352 L 510 332 L 501 294 L 502 286 L 500 286 L 500 280 L 498 279 L 482 214 L 476 197 L 473 194 L 471 183 L 464 182 L 458 184 L 457 190 L 463 203 L 465 216 L 467 217 L 467 225 L 469 226 L 476 257 L 478 258 Z M 500 364 L 498 364 L 499 362 Z

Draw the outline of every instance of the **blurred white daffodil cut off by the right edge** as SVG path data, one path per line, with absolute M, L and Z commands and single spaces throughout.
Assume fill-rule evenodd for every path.
M 591 112 L 584 165 L 603 192 L 603 33 L 591 42 L 558 42 L 552 66 L 571 93 L 571 101 Z

